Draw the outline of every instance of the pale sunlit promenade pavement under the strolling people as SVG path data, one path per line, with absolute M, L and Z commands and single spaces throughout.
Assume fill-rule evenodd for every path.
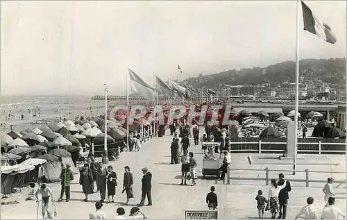
M 110 162 L 114 167 L 119 178 L 117 195 L 115 196 L 116 203 L 104 205 L 103 212 L 108 219 L 113 219 L 116 216 L 118 207 L 124 207 L 126 214 L 130 211 L 132 205 L 125 205 L 126 195 L 121 194 L 121 185 L 123 183 L 124 167 L 128 165 L 134 175 L 134 194 L 135 198 L 131 203 L 136 205 L 139 203 L 141 196 L 141 178 L 142 167 L 148 167 L 153 174 L 152 180 L 152 196 L 153 206 L 141 208 L 142 212 L 152 219 L 182 219 L 184 218 L 185 209 L 205 209 L 205 196 L 210 191 L 210 187 L 214 185 L 219 196 L 219 217 L 220 218 L 239 218 L 239 219 L 254 219 L 257 218 L 255 196 L 257 190 L 262 189 L 264 194 L 267 194 L 269 186 L 266 186 L 264 181 L 260 180 L 232 180 L 231 185 L 223 185 L 221 181 L 216 185 L 215 180 L 201 180 L 201 169 L 203 163 L 203 155 L 201 154 L 201 146 L 194 146 L 191 140 L 191 151 L 196 155 L 198 162 L 197 185 L 180 186 L 180 164 L 172 165 L 170 163 L 170 136 L 150 139 L 149 142 L 142 144 L 140 152 L 124 152 L 117 162 Z M 247 155 L 235 154 L 232 155 L 232 167 L 250 168 L 246 159 Z M 339 155 L 342 157 L 342 155 Z M 262 165 L 257 165 L 254 169 Z M 264 167 L 264 166 L 263 166 Z M 332 169 L 331 167 L 326 167 Z M 283 169 L 288 169 L 285 167 Z M 233 174 L 237 175 L 237 174 Z M 239 174 L 239 176 L 244 174 Z M 247 174 L 254 176 L 257 173 Z M 273 176 L 276 178 L 278 174 Z M 287 175 L 287 174 L 285 174 Z M 314 185 L 314 187 L 303 187 L 303 183 L 292 183 L 292 191 L 288 205 L 288 218 L 294 218 L 300 208 L 305 205 L 308 196 L 314 196 L 317 200 L 323 199 L 321 192 L 322 184 Z M 53 189 L 56 198 L 60 194 L 60 184 L 49 184 Z M 337 205 L 343 209 L 346 203 L 344 194 L 344 186 L 339 186 L 336 191 L 339 192 Z M 74 183 L 71 184 L 71 200 L 69 203 L 56 203 L 58 208 L 59 219 L 87 219 L 90 211 L 94 210 L 94 203 L 99 201 L 99 193 L 90 195 L 89 202 L 83 202 L 84 194 L 81 185 L 78 185 L 78 175 L 75 175 Z M 19 201 L 19 200 L 17 200 Z M 35 201 L 19 201 L 15 205 L 1 205 L 1 219 L 35 219 L 37 212 L 37 203 Z M 40 214 L 41 215 L 41 214 Z M 39 215 L 39 218 L 40 218 Z M 271 217 L 269 212 L 266 212 L 265 217 Z

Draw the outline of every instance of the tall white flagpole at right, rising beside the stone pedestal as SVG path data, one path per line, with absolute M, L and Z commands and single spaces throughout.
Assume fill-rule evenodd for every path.
M 296 171 L 296 157 L 298 154 L 298 108 L 299 108 L 299 1 L 296 1 L 296 68 L 295 68 L 295 115 L 294 115 L 294 157 L 293 157 L 293 175 Z

